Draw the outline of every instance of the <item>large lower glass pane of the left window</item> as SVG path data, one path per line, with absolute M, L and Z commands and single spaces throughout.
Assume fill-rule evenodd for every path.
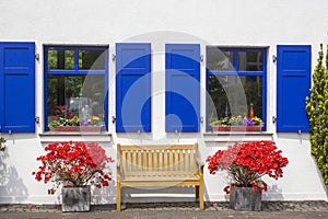
M 48 123 L 74 116 L 81 125 L 103 126 L 105 76 L 48 76 Z M 59 113 L 59 107 L 62 112 Z

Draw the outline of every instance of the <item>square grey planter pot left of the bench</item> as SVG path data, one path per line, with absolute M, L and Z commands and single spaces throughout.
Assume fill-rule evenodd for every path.
M 90 186 L 62 188 L 61 200 L 61 210 L 63 212 L 90 211 Z

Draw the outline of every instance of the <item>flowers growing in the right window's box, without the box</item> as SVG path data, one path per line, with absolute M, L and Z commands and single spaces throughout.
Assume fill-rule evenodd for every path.
M 262 126 L 261 118 L 254 116 L 251 118 L 238 116 L 225 116 L 210 124 L 211 126 Z

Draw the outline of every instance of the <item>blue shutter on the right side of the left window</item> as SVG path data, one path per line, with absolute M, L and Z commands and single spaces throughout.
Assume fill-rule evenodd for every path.
M 116 44 L 116 131 L 151 131 L 150 44 Z

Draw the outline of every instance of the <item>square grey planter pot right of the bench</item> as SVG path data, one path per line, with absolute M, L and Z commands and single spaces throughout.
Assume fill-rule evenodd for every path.
M 251 187 L 235 187 L 230 194 L 230 207 L 235 210 L 261 210 L 261 192 Z

